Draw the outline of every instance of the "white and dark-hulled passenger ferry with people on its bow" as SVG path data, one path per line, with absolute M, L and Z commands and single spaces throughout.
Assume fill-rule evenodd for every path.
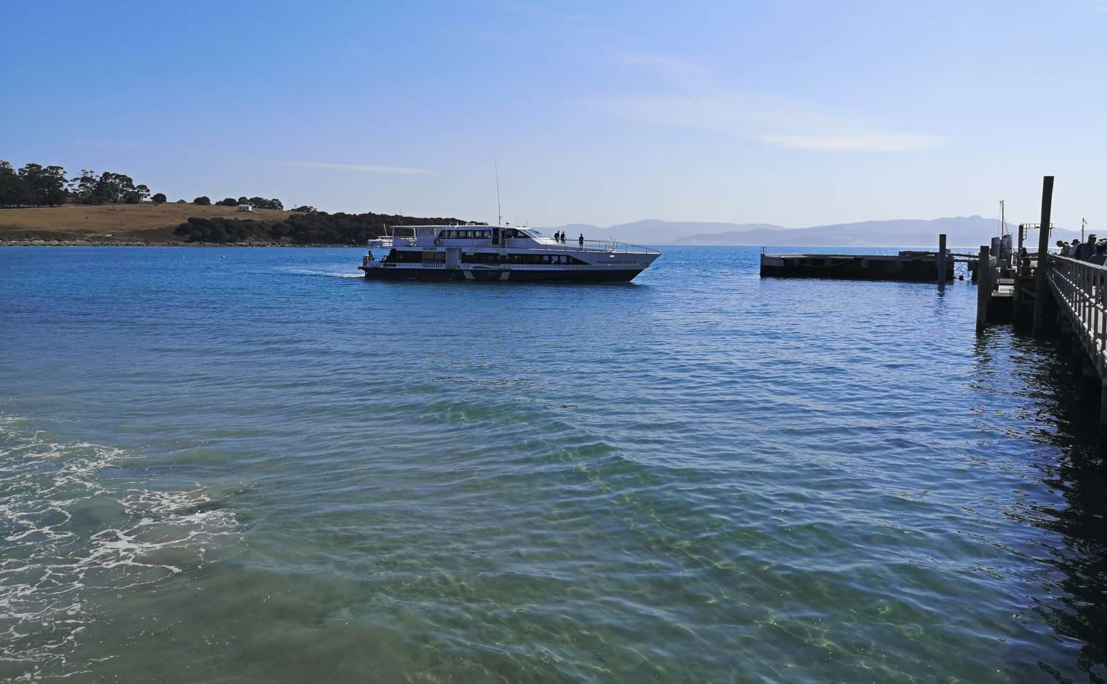
M 565 242 L 518 226 L 394 226 L 369 240 L 360 270 L 374 280 L 627 282 L 661 252 L 613 240 Z M 373 249 L 382 250 L 380 258 Z

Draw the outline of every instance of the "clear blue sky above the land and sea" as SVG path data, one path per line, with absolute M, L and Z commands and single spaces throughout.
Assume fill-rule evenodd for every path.
M 1107 229 L 1107 0 L 13 3 L 0 158 L 170 199 Z

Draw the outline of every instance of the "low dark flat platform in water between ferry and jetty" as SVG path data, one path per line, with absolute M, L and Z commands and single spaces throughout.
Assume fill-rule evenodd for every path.
M 770 255 L 761 256 L 762 277 L 839 278 L 846 280 L 953 280 L 956 257 L 938 236 L 938 251 L 900 251 L 896 255 Z M 975 258 L 975 257 L 973 257 Z

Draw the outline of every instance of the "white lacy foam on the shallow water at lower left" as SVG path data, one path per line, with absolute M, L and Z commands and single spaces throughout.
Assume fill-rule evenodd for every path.
M 27 665 L 17 681 L 44 669 L 81 674 L 68 659 L 102 618 L 86 608 L 90 591 L 123 592 L 203 567 L 238 526 L 204 487 L 154 490 L 100 475 L 133 454 L 21 425 L 0 415 L 0 663 Z

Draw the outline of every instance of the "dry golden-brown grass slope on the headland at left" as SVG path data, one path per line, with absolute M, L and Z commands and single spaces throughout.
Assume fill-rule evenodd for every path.
M 173 235 L 173 229 L 190 216 L 281 220 L 288 215 L 288 211 L 273 209 L 255 209 L 247 214 L 235 207 L 178 204 L 0 209 L 0 241 L 43 239 L 176 242 L 180 238 Z

